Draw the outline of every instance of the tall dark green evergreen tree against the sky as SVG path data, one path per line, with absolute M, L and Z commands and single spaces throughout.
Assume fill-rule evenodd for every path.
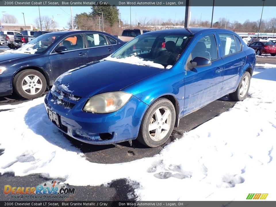
M 99 2 L 98 5 L 100 5 Z M 111 6 L 110 4 L 106 4 L 97 6 L 96 2 L 96 4 L 91 7 L 91 9 L 92 12 L 90 12 L 90 14 L 93 17 L 97 17 L 101 15 L 99 12 L 103 12 L 104 19 L 109 22 L 110 26 L 113 26 L 115 22 L 119 22 L 119 10 L 117 9 L 116 5 Z

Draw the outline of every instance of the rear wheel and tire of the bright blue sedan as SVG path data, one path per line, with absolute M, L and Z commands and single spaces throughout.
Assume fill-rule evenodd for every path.
M 247 72 L 247 71 L 244 72 L 236 91 L 233 93 L 230 93 L 229 97 L 234 101 L 244 100 L 248 93 L 249 87 L 250 87 L 250 80 L 251 80 L 251 76 L 250 76 L 249 72 Z

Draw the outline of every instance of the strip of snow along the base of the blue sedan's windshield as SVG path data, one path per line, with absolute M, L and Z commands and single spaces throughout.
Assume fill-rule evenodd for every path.
M 106 57 L 104 60 L 110 60 L 110 61 L 116 61 L 116 62 L 123 62 L 123 63 L 129 63 L 134 65 L 143 65 L 143 66 L 150 66 L 155 68 L 162 68 L 164 69 L 164 66 L 158 63 L 154 63 L 152 61 L 146 61 L 143 58 L 135 57 L 134 55 L 130 57 L 124 57 L 124 58 L 116 58 L 116 57 Z

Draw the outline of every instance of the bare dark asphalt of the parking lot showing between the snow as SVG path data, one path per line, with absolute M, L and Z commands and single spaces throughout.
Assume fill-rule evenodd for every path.
M 1 50 L 8 49 L 5 46 L 0 47 Z M 257 63 L 259 64 L 276 64 L 276 57 L 270 56 L 258 56 Z M 11 104 L 12 105 L 20 104 L 22 102 L 32 101 L 21 99 L 16 95 L 0 97 L 0 105 Z M 68 137 L 72 145 L 80 149 L 84 154 L 85 158 L 90 162 L 103 163 L 103 164 L 112 164 L 112 163 L 121 163 L 121 162 L 130 162 L 133 160 L 141 159 L 144 157 L 152 157 L 160 152 L 162 148 L 169 144 L 175 139 L 179 139 L 183 136 L 184 132 L 190 131 L 204 122 L 219 116 L 219 114 L 229 110 L 234 106 L 235 102 L 230 101 L 228 96 L 222 97 L 212 103 L 208 104 L 204 108 L 189 114 L 180 120 L 178 128 L 173 130 L 172 135 L 168 141 L 160 147 L 148 148 L 144 145 L 141 145 L 137 141 L 133 141 L 133 145 L 130 146 L 129 142 L 123 142 L 114 145 L 88 145 Z M 0 110 L 1 114 L 1 110 Z M 1 151 L 0 151 L 1 156 Z M 58 178 L 56 178 L 58 179 Z M 43 177 L 42 175 L 28 175 L 24 177 L 14 176 L 13 173 L 5 173 L 0 175 L 0 183 L 9 183 L 9 185 L 17 186 L 28 186 L 30 183 L 32 185 L 38 185 L 43 181 L 48 180 L 48 178 Z M 139 185 L 139 184 L 137 184 Z M 134 194 L 134 189 L 131 185 L 127 183 L 127 180 L 120 179 L 109 183 L 109 185 L 101 186 L 70 186 L 76 188 L 76 193 L 66 201 L 82 201 L 82 200 L 134 200 L 129 199 L 127 196 L 128 193 Z M 3 192 L 3 185 L 0 186 L 1 191 Z M 0 200 L 15 200 L 11 199 L 10 196 L 5 196 L 3 193 L 0 193 Z

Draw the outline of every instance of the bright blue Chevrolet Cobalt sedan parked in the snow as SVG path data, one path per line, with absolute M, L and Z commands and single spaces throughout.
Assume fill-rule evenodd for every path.
M 49 119 L 79 141 L 163 144 L 179 119 L 229 94 L 245 99 L 255 51 L 225 29 L 147 32 L 109 57 L 62 74 L 45 97 Z

